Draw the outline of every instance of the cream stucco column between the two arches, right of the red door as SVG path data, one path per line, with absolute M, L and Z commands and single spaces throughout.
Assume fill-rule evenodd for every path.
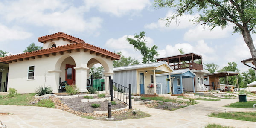
M 74 67 L 76 70 L 76 86 L 80 92 L 88 92 L 86 89 L 86 79 L 88 67 Z

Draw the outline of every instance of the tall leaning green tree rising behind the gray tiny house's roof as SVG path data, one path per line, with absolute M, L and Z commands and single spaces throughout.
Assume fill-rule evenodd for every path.
M 156 62 L 156 59 L 154 59 L 154 56 L 158 56 L 157 52 L 157 46 L 154 45 L 153 47 L 149 48 L 146 46 L 146 40 L 145 40 L 145 32 L 140 32 L 139 35 L 135 34 L 134 38 L 126 38 L 126 40 L 134 46 L 136 50 L 140 51 L 140 54 L 142 55 L 142 63 L 146 64 L 148 62 Z

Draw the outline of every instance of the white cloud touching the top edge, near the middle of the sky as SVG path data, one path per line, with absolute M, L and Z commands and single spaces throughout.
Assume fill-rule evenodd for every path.
M 97 8 L 100 12 L 109 13 L 117 17 L 140 12 L 151 5 L 150 0 L 84 0 L 87 9 Z

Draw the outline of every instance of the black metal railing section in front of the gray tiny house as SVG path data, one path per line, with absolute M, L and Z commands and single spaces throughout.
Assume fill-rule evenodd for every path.
M 131 84 L 129 84 L 129 88 L 127 88 L 125 86 L 122 86 L 120 84 L 113 82 L 113 80 L 111 79 L 110 95 L 111 95 L 111 101 L 113 101 L 113 98 L 115 98 L 115 99 L 129 105 L 129 109 L 132 108 L 132 106 L 131 106 Z

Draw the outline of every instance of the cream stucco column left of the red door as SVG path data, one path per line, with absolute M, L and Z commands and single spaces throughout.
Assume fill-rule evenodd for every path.
M 52 87 L 53 93 L 58 93 L 59 79 L 61 70 L 48 70 L 46 74 L 45 85 Z

